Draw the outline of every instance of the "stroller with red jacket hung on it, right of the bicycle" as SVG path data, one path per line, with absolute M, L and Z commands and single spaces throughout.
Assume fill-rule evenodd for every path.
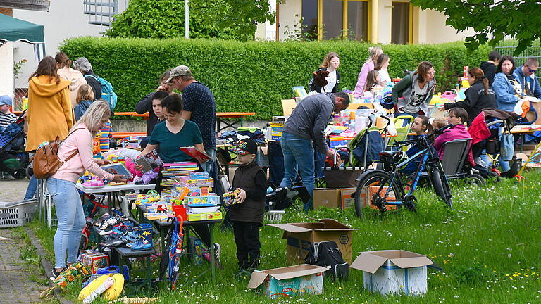
M 481 152 L 486 150 L 487 156 L 492 160 L 490 171 L 500 177 L 515 177 L 521 169 L 521 159 L 516 158 L 516 156 L 513 156 L 509 160 L 510 170 L 506 172 L 499 172 L 495 165 L 497 160 L 502 158 L 501 139 L 508 139 L 514 143 L 511 129 L 518 119 L 519 116 L 515 113 L 504 110 L 484 109 L 473 120 L 471 127 L 468 129 L 473 139 L 473 158 L 477 159 Z M 503 132 L 501 131 L 502 129 Z M 511 144 L 511 146 L 514 146 L 514 144 Z M 507 151 L 507 154 L 509 153 L 512 154 L 513 151 Z

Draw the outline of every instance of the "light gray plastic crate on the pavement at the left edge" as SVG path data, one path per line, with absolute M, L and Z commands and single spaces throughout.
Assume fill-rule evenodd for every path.
M 0 228 L 23 226 L 34 219 L 36 201 L 0 202 Z

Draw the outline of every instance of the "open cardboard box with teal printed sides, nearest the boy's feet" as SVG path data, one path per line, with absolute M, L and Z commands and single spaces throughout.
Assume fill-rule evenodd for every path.
M 327 268 L 316 265 L 296 265 L 271 270 L 254 270 L 249 289 L 261 286 L 268 298 L 312 295 L 323 293 L 323 272 Z

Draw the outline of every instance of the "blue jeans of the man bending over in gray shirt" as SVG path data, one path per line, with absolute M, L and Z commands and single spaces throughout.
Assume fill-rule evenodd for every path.
M 297 172 L 300 170 L 302 183 L 312 198 L 314 182 L 312 141 L 282 132 L 281 144 L 285 172 L 280 186 L 292 186 L 293 181 L 297 179 Z M 311 208 L 312 199 L 304 204 L 304 211 L 307 212 Z

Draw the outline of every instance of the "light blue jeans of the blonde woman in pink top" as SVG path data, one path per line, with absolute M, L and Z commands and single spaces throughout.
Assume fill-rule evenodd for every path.
M 54 267 L 64 268 L 77 260 L 85 213 L 75 184 L 63 179 L 47 179 L 47 189 L 53 196 L 58 225 L 54 234 Z M 68 257 L 66 261 L 66 251 Z

